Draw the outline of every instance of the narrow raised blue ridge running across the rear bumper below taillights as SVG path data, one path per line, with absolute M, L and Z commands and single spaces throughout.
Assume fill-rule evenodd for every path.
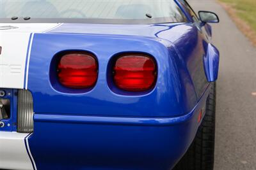
M 170 126 L 188 122 L 194 114 L 199 113 L 198 109 L 205 104 L 205 98 L 209 89 L 205 91 L 204 97 L 200 99 L 195 108 L 188 114 L 181 117 L 90 117 L 82 115 L 49 115 L 46 113 L 36 114 L 35 122 L 58 122 L 69 124 L 111 124 L 111 125 L 143 125 L 143 126 Z

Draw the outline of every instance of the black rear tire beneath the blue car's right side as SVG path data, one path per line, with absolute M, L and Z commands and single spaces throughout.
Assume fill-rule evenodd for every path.
M 216 83 L 207 98 L 205 116 L 196 137 L 173 170 L 212 170 L 214 168 Z

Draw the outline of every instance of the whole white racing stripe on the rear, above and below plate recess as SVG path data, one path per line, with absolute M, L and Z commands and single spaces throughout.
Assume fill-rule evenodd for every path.
M 0 24 L 0 88 L 28 88 L 29 60 L 34 33 L 47 32 L 60 25 Z M 8 29 L 9 26 L 13 29 Z M 26 136 L 28 134 L 0 131 L 0 169 L 36 170 Z

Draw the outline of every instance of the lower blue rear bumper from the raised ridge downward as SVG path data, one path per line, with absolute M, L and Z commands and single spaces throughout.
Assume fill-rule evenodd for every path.
M 171 169 L 195 137 L 208 90 L 177 118 L 36 114 L 29 146 L 37 169 Z

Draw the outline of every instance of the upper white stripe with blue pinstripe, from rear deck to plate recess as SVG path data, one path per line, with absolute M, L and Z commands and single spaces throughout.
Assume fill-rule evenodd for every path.
M 29 43 L 29 38 L 31 38 L 31 34 L 49 31 L 60 25 L 0 24 L 0 46 L 2 47 L 0 54 L 0 88 L 26 89 L 28 87 L 26 81 L 28 80 L 28 68 L 26 69 L 26 67 L 29 66 L 32 45 L 32 43 Z M 5 29 L 8 26 L 12 26 L 13 29 Z M 32 41 L 31 38 L 30 42 Z

